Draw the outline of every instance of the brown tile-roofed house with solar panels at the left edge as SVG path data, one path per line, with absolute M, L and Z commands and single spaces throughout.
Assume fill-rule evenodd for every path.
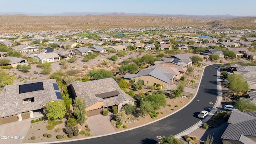
M 0 92 L 0 124 L 46 114 L 47 102 L 63 100 L 55 79 L 4 86 Z

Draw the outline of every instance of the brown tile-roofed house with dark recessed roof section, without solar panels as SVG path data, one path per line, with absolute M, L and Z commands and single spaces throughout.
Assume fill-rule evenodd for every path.
M 75 81 L 70 85 L 74 98 L 86 100 L 88 116 L 101 114 L 103 108 L 117 106 L 118 112 L 127 104 L 134 105 L 134 99 L 118 86 L 113 78 L 92 80 L 89 82 Z

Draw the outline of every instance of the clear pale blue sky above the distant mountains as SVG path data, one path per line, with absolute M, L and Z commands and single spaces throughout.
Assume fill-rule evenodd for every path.
M 0 0 L 0 12 L 146 12 L 255 16 L 256 0 Z

